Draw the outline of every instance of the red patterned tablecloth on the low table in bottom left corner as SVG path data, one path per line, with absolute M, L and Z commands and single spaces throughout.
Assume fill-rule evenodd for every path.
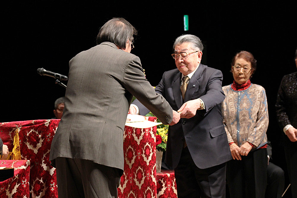
M 29 160 L 0 160 L 0 167 L 14 168 L 14 176 L 0 182 L 0 197 L 29 197 Z

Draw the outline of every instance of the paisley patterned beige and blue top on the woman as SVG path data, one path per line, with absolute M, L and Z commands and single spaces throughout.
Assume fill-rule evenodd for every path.
M 228 142 L 239 147 L 249 142 L 260 148 L 267 143 L 269 121 L 265 89 L 249 82 L 248 87 L 235 91 L 233 84 L 223 87 L 222 115 Z

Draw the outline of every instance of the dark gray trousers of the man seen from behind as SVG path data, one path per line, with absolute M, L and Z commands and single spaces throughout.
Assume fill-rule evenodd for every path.
M 58 157 L 56 173 L 59 198 L 117 197 L 121 180 L 117 168 L 85 159 Z

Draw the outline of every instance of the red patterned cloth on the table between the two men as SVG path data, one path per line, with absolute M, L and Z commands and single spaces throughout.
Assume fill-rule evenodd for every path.
M 156 119 L 149 117 L 149 121 Z M 146 129 L 125 126 L 124 174 L 118 188 L 118 197 L 157 197 L 156 131 L 157 126 Z

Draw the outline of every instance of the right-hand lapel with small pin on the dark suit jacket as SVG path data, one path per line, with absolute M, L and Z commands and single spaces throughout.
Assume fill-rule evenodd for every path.
M 201 78 L 204 69 L 205 65 L 200 64 L 194 75 L 191 77 L 185 95 L 185 102 L 191 100 L 193 94 L 198 91 L 199 79 Z

